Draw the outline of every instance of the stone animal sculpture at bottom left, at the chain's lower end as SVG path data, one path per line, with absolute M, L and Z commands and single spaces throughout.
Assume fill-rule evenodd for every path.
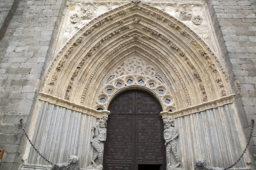
M 70 164 L 70 166 L 68 166 Z M 68 161 L 62 164 L 57 164 L 58 167 L 52 165 L 50 170 L 80 170 L 80 157 L 69 156 Z

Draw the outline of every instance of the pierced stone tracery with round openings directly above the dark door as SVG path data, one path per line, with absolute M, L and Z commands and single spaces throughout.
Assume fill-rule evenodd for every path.
M 139 58 L 130 58 L 116 67 L 96 98 L 95 109 L 106 110 L 109 102 L 122 89 L 143 87 L 157 96 L 163 110 L 175 111 L 168 86 L 156 69 Z

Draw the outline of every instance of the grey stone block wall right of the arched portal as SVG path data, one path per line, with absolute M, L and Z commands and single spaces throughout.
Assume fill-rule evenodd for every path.
M 251 119 L 256 120 L 256 1 L 212 0 L 207 5 L 248 139 Z M 256 153 L 255 142 L 256 131 L 249 147 L 252 155 Z M 254 164 L 255 159 L 253 156 Z

